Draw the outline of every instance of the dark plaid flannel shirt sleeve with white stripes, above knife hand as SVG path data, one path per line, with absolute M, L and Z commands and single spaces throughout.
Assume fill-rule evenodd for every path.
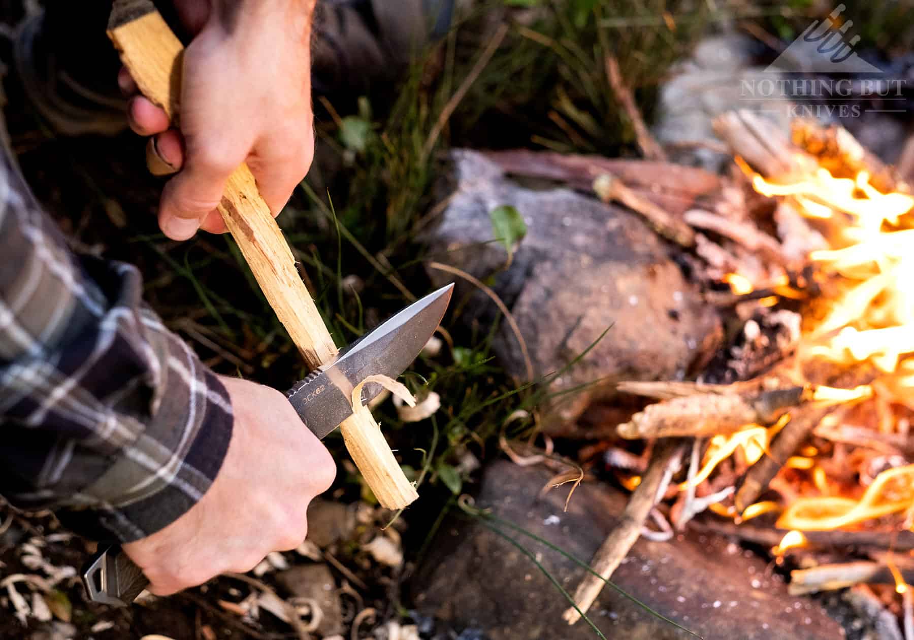
M 228 393 L 143 305 L 133 266 L 76 257 L 0 150 L 0 494 L 138 540 L 207 491 Z

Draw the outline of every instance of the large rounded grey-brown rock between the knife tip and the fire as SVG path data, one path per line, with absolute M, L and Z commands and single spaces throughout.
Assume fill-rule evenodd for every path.
M 561 407 L 562 421 L 605 395 L 614 380 L 682 379 L 717 346 L 716 311 L 636 215 L 568 189 L 522 188 L 478 152 L 455 151 L 452 158 L 456 191 L 440 225 L 426 237 L 432 257 L 476 278 L 496 274 L 492 287 L 524 336 L 534 378 L 562 369 L 609 329 L 553 383 L 553 391 L 603 383 Z M 499 205 L 514 206 L 527 226 L 508 268 L 489 218 Z M 438 286 L 456 281 L 455 300 L 473 289 L 443 271 L 430 270 L 430 276 Z M 496 314 L 477 290 L 462 319 L 487 326 Z M 527 379 L 522 351 L 505 321 L 494 350 L 510 375 Z

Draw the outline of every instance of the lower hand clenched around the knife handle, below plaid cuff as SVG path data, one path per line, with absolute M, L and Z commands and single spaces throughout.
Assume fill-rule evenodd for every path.
M 294 549 L 308 530 L 308 503 L 334 480 L 333 458 L 282 393 L 221 381 L 235 426 L 212 486 L 165 529 L 123 545 L 158 595 L 250 571 L 270 551 Z

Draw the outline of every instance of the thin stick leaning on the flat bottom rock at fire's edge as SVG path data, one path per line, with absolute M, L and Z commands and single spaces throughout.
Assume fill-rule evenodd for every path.
M 632 498 L 629 498 L 628 504 L 625 505 L 619 524 L 606 540 L 603 540 L 600 549 L 590 561 L 593 571 L 606 580 L 610 579 L 612 572 L 619 567 L 641 535 L 644 520 L 647 519 L 651 509 L 654 509 L 658 499 L 663 497 L 666 485 L 672 477 L 670 468 L 677 464 L 682 452 L 683 443 L 678 440 L 666 441 L 654 450 L 654 458 L 651 460 L 641 484 L 634 490 Z M 587 613 L 590 605 L 603 590 L 604 584 L 605 582 L 592 573 L 589 573 L 580 582 L 574 593 L 574 601 L 581 612 Z M 578 609 L 569 607 L 562 614 L 568 624 L 575 624 L 580 620 Z

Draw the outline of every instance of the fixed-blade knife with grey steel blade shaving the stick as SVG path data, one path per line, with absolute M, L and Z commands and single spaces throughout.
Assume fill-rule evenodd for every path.
M 413 302 L 392 318 L 345 347 L 329 362 L 295 383 L 286 393 L 305 426 L 321 440 L 352 414 L 356 384 L 377 373 L 396 378 L 416 359 L 438 328 L 451 300 L 453 285 L 447 285 Z M 383 387 L 367 383 L 362 402 L 367 403 Z M 127 557 L 120 545 L 98 551 L 82 570 L 82 583 L 90 600 L 126 606 L 149 581 Z

